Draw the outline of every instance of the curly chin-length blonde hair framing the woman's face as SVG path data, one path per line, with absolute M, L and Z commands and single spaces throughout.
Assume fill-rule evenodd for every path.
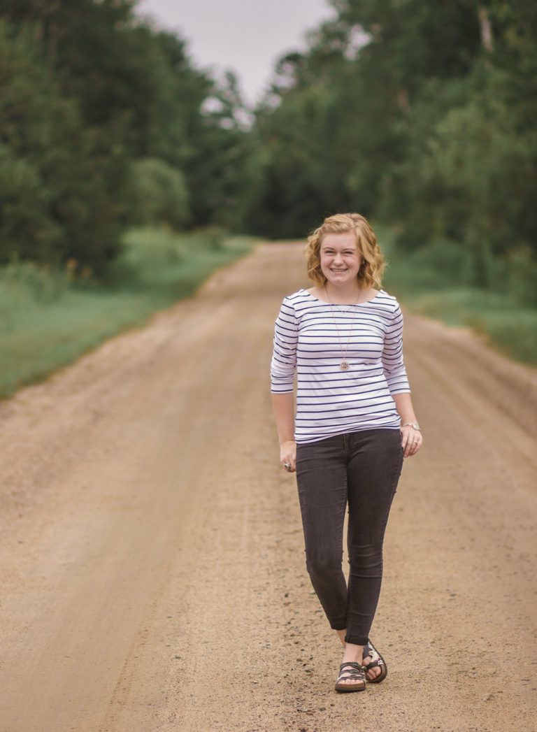
M 304 253 L 308 277 L 318 287 L 326 284 L 326 277 L 320 269 L 320 245 L 326 234 L 346 234 L 354 231 L 356 247 L 362 257 L 362 264 L 358 272 L 358 283 L 361 288 L 367 289 L 373 285 L 382 286 L 382 274 L 386 262 L 377 243 L 371 226 L 360 214 L 334 214 L 328 216 L 323 223 L 308 236 L 308 243 Z

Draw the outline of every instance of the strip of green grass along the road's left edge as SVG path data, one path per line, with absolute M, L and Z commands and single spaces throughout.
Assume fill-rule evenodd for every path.
M 152 313 L 187 297 L 254 239 L 219 231 L 135 229 L 104 284 L 30 264 L 0 269 L 0 397 L 39 381 Z

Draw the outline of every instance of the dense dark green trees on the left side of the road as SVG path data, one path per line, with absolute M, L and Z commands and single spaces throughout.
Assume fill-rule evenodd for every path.
M 99 275 L 129 225 L 230 223 L 248 144 L 233 83 L 132 0 L 2 0 L 0 264 Z

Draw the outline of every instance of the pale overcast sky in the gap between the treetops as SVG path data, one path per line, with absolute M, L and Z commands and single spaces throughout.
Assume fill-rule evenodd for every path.
M 304 48 L 305 31 L 334 15 L 328 0 L 139 0 L 138 13 L 179 31 L 197 67 L 235 71 L 251 103 L 279 56 Z

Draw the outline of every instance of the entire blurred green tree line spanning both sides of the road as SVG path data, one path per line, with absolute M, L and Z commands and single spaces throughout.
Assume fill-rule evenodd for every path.
M 98 271 L 132 223 L 290 238 L 353 209 L 535 302 L 537 4 L 331 5 L 247 126 L 233 75 L 196 69 L 134 2 L 3 0 L 3 260 Z

